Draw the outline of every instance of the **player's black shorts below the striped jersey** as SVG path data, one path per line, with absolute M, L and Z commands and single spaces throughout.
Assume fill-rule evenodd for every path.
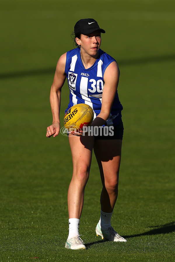
M 106 127 L 104 127 L 105 129 Z M 120 120 L 120 122 L 118 123 L 118 125 L 116 126 L 112 126 L 112 127 L 109 127 L 108 129 L 108 132 L 106 132 L 106 130 L 103 130 L 102 128 L 102 131 L 99 129 L 99 132 L 98 135 L 94 135 L 94 138 L 95 139 L 98 139 L 98 140 L 106 140 L 106 139 L 123 139 L 123 122 L 122 122 L 122 119 Z

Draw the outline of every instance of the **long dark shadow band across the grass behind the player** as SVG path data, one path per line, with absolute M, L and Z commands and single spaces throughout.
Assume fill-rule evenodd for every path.
M 155 63 L 155 62 L 166 62 L 166 61 L 174 61 L 175 54 L 171 55 L 159 55 L 159 56 L 150 56 L 150 57 L 142 57 L 142 58 L 135 58 L 132 60 L 119 60 L 119 66 L 125 65 L 140 65 L 145 63 Z M 20 72 L 9 72 L 9 73 L 1 73 L 0 79 L 5 78 L 17 78 L 17 77 L 25 77 L 25 76 L 35 76 L 35 75 L 44 75 L 44 74 L 54 74 L 55 67 L 53 68 L 45 68 L 45 69 L 35 69 L 35 70 L 25 70 Z

